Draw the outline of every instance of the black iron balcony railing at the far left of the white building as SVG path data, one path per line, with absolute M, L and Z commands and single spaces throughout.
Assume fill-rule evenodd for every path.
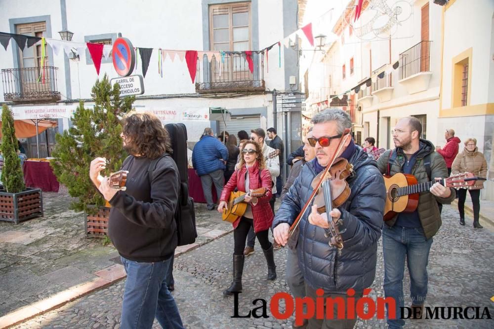
M 2 69 L 3 98 L 13 102 L 59 101 L 57 70 L 53 66 Z

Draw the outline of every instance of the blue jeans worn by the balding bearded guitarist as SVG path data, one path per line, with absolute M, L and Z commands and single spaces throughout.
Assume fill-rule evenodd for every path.
M 410 297 L 413 305 L 421 305 L 427 296 L 427 262 L 432 238 L 426 239 L 421 227 L 402 226 L 382 228 L 382 250 L 384 256 L 384 295 L 396 301 L 396 319 L 388 319 L 389 328 L 401 328 L 405 320 L 400 319 L 400 307 L 405 306 L 403 296 L 403 273 L 405 257 L 410 273 Z M 386 304 L 386 308 L 388 305 Z

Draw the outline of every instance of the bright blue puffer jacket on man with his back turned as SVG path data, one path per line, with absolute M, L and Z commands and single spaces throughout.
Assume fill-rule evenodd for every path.
M 198 176 L 225 169 L 223 160 L 228 160 L 228 149 L 214 136 L 201 137 L 192 151 L 192 166 Z

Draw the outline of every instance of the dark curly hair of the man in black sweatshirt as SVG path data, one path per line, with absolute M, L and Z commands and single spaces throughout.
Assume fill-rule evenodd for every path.
M 123 126 L 124 148 L 130 154 L 154 159 L 173 152 L 168 131 L 153 113 L 129 112 Z

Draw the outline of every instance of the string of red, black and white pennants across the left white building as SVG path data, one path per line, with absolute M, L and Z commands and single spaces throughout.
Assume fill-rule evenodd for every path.
M 289 47 L 290 40 L 293 40 L 295 37 L 306 37 L 310 44 L 314 46 L 314 37 L 312 34 L 312 23 L 309 23 L 297 31 L 290 34 L 288 37 L 285 37 L 282 41 L 285 47 Z M 72 53 L 82 54 L 85 49 L 88 49 L 89 55 L 93 61 L 94 67 L 96 69 L 96 73 L 99 75 L 99 70 L 101 66 L 102 57 L 108 59 L 110 57 L 111 51 L 113 49 L 113 45 L 107 44 L 99 44 L 99 43 L 91 43 L 91 42 L 75 42 L 75 41 L 66 41 L 66 40 L 58 40 L 47 37 L 31 37 L 25 35 L 11 34 L 0 32 L 0 44 L 3 46 L 5 50 L 7 50 L 10 39 L 13 38 L 19 48 L 23 51 L 27 46 L 28 48 L 32 47 L 34 44 L 41 41 L 41 67 L 45 67 L 44 58 L 46 53 L 46 44 L 48 44 L 55 55 L 58 56 L 60 53 L 60 49 L 63 49 L 67 55 L 71 55 Z M 242 56 L 248 64 L 248 69 L 250 73 L 253 73 L 254 70 L 254 62 L 253 62 L 253 54 L 265 53 L 266 55 L 266 69 L 269 72 L 269 64 L 268 64 L 268 52 L 276 45 L 278 45 L 278 67 L 281 68 L 281 44 L 282 41 L 278 41 L 273 43 L 272 45 L 265 47 L 261 50 L 246 50 L 246 51 L 201 51 L 201 50 L 169 50 L 162 48 L 142 48 L 135 47 L 136 51 L 136 61 L 135 67 L 138 67 L 138 59 L 140 57 L 141 67 L 142 67 L 142 75 L 145 77 L 148 71 L 149 63 L 151 61 L 151 55 L 155 50 L 158 51 L 158 74 L 163 77 L 163 62 L 166 57 L 168 57 L 171 62 L 175 61 L 175 59 L 179 59 L 180 62 L 183 62 L 184 59 L 187 63 L 187 67 L 190 73 L 190 77 L 192 79 L 192 83 L 195 81 L 196 71 L 197 71 L 197 58 L 204 59 L 204 56 L 207 57 L 207 61 L 211 62 L 214 59 L 219 62 L 219 72 L 221 72 L 221 66 L 224 65 L 225 56 L 228 55 L 240 55 Z M 38 80 L 42 79 L 44 83 L 44 69 L 41 70 L 40 77 Z

